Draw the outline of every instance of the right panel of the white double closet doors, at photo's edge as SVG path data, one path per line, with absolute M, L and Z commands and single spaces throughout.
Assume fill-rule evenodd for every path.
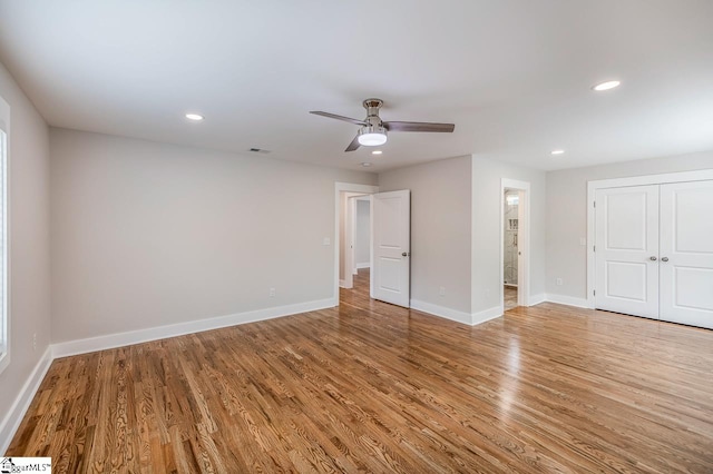
M 713 328 L 713 181 L 661 186 L 661 319 Z

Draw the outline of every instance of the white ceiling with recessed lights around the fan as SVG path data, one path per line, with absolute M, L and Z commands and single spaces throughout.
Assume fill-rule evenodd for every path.
M 0 0 L 0 60 L 52 126 L 352 169 L 713 149 L 713 0 Z M 307 113 L 362 119 L 368 97 L 456 131 L 372 157 Z

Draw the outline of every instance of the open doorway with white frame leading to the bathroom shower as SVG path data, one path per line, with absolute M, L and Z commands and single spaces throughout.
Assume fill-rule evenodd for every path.
M 502 310 L 529 306 L 530 184 L 502 179 L 500 189 L 500 300 Z

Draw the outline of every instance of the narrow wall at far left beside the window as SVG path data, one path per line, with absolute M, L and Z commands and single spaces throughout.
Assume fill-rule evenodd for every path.
M 0 374 L 0 453 L 18 421 L 16 401 L 50 343 L 49 149 L 42 117 L 0 65 L 0 97 L 10 105 L 10 365 Z M 37 335 L 37 348 L 32 336 Z M 40 371 L 41 372 L 41 371 Z M 37 373 L 35 375 L 38 375 Z M 41 376 L 40 373 L 38 375 Z M 22 408 L 20 408 L 21 411 Z

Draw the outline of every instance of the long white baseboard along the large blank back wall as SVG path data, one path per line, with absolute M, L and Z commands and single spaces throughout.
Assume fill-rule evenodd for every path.
M 233 315 L 218 316 L 206 319 L 191 320 L 167 326 L 150 327 L 147 329 L 130 330 L 127 333 L 108 334 L 106 336 L 89 337 L 86 339 L 67 340 L 64 343 L 52 344 L 52 357 L 58 358 L 77 354 L 92 353 L 97 350 L 113 349 L 115 347 L 129 346 L 131 344 L 165 339 L 167 337 L 183 336 L 184 334 L 218 329 L 221 327 L 235 326 L 238 324 L 255 323 L 258 320 L 290 316 L 297 313 L 331 308 L 333 306 L 334 298 L 319 299 L 314 302 L 276 306 L 272 308 L 256 309 L 253 312 L 237 313 Z

